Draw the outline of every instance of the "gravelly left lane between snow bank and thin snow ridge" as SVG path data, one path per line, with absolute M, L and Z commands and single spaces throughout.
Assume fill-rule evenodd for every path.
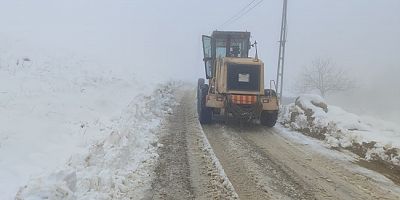
M 181 95 L 160 139 L 153 199 L 237 199 L 198 122 L 194 94 Z

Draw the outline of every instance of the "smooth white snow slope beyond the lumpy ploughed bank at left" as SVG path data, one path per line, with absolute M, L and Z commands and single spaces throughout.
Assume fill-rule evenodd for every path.
M 28 54 L 28 53 L 27 53 Z M 72 57 L 0 54 L 0 199 L 113 129 L 135 76 Z M 147 93 L 147 92 L 146 92 Z

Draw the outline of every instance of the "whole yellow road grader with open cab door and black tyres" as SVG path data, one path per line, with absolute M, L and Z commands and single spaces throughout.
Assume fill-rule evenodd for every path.
M 214 31 L 202 36 L 205 79 L 197 86 L 197 110 L 202 124 L 213 116 L 240 121 L 259 120 L 272 127 L 278 117 L 278 100 L 273 88 L 264 88 L 264 63 L 249 57 L 250 33 Z

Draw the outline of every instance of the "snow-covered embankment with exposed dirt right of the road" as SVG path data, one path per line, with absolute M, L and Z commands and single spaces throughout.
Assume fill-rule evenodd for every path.
M 400 166 L 400 127 L 360 117 L 328 105 L 316 95 L 301 95 L 284 107 L 281 123 L 292 130 L 323 140 L 360 157 Z

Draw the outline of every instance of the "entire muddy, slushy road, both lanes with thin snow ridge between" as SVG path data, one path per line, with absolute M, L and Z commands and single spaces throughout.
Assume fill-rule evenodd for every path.
M 400 198 L 399 187 L 383 176 L 297 143 L 280 129 L 201 128 L 194 99 L 186 92 L 164 127 L 153 199 Z

